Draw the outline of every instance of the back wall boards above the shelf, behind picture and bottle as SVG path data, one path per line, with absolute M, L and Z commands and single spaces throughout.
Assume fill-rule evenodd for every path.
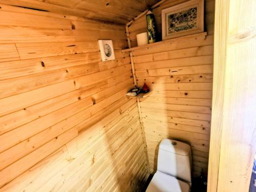
M 167 0 L 163 4 L 159 5 L 159 7 L 155 8 L 153 10 L 153 13 L 156 18 L 157 23 L 157 31 L 158 36 L 161 39 L 162 38 L 162 17 L 161 17 L 161 11 L 163 9 L 184 3 L 188 0 Z M 204 1 L 204 28 L 205 31 L 208 32 L 208 35 L 214 34 L 214 7 L 215 7 L 215 0 L 205 0 Z M 130 27 L 129 27 L 129 33 L 130 33 L 130 39 L 131 39 L 131 46 L 136 47 L 137 46 L 137 39 L 136 35 L 139 33 L 143 33 L 147 31 L 147 25 L 146 25 L 146 19 L 145 16 L 140 17 L 138 20 L 136 20 Z

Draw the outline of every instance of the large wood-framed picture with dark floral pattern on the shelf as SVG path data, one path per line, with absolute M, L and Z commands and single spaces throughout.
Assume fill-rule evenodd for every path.
M 162 10 L 162 40 L 203 31 L 204 0 L 190 0 Z

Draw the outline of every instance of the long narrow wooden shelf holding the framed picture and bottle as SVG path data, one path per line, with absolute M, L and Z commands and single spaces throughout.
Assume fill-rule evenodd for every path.
M 148 49 L 150 47 L 154 47 L 154 46 L 158 46 L 158 45 L 169 44 L 172 41 L 186 39 L 188 37 L 189 38 L 198 37 L 198 36 L 207 36 L 207 32 L 196 33 L 196 34 L 193 34 L 193 35 L 186 35 L 186 36 L 183 36 L 183 37 L 177 37 L 177 38 L 173 38 L 173 39 L 163 40 L 163 41 L 159 41 L 159 42 L 154 42 L 153 44 L 147 44 L 147 45 L 144 45 L 144 46 L 133 47 L 133 48 L 130 48 L 130 49 L 123 49 L 121 52 L 125 53 L 125 52 L 135 51 L 135 50 L 138 50 L 138 49 Z

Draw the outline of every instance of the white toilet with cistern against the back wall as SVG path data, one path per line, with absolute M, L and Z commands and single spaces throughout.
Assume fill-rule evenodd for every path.
M 189 192 L 191 186 L 191 147 L 163 139 L 159 145 L 157 172 L 146 192 Z

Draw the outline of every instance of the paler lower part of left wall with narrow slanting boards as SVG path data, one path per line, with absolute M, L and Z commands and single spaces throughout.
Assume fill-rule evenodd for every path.
M 147 177 L 138 108 L 133 99 L 120 101 L 119 108 L 2 190 L 138 190 Z M 135 166 L 140 173 L 132 177 Z

